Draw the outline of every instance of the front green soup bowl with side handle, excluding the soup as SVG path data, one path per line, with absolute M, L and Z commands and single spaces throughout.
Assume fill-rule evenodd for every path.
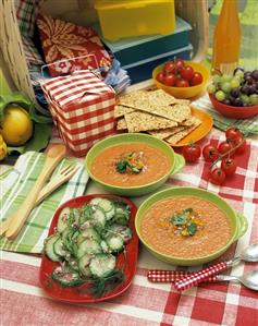
M 153 249 L 149 243 L 145 241 L 142 234 L 142 221 L 146 214 L 146 212 L 158 202 L 168 200 L 168 198 L 174 198 L 179 196 L 195 196 L 198 198 L 206 200 L 212 204 L 214 204 L 218 208 L 220 208 L 229 218 L 232 232 L 231 238 L 228 241 L 228 243 L 223 246 L 221 246 L 218 251 L 212 252 L 209 255 L 204 255 L 199 257 L 180 257 L 180 256 L 173 256 L 163 254 L 156 249 Z M 216 218 L 216 217 L 214 217 Z M 136 217 L 135 217 L 135 228 L 136 232 L 138 234 L 138 238 L 143 242 L 143 244 L 146 246 L 146 249 L 155 255 L 158 259 L 179 266 L 194 266 L 194 265 L 200 265 L 204 263 L 208 263 L 210 261 L 213 261 L 221 256 L 233 242 L 238 240 L 247 230 L 248 224 L 247 219 L 241 215 L 239 213 L 235 212 L 223 198 L 218 196 L 214 193 L 208 192 L 206 190 L 201 190 L 198 188 L 171 188 L 167 189 L 164 191 L 160 191 L 150 197 L 148 197 L 138 208 Z M 168 240 L 164 240 L 168 241 Z

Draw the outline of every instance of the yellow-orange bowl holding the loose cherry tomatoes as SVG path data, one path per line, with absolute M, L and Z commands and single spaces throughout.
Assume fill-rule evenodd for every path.
M 189 87 L 175 87 L 175 86 L 167 86 L 159 81 L 157 81 L 157 75 L 163 70 L 164 64 L 160 64 L 156 67 L 152 71 L 152 79 L 158 88 L 163 89 L 164 92 L 173 95 L 176 98 L 193 98 L 205 90 L 206 84 L 209 80 L 209 71 L 201 63 L 185 61 L 185 64 L 191 65 L 195 72 L 199 72 L 202 75 L 202 82 L 195 86 Z

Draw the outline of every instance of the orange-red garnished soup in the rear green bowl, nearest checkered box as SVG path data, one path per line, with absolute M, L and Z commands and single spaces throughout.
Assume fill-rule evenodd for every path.
M 91 164 L 91 173 L 105 183 L 137 186 L 155 182 L 171 169 L 161 149 L 144 143 L 124 143 L 103 149 Z

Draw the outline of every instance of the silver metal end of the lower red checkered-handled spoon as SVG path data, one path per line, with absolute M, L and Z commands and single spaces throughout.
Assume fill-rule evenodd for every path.
M 246 273 L 242 276 L 217 275 L 218 281 L 238 281 L 246 288 L 258 291 L 258 269 Z

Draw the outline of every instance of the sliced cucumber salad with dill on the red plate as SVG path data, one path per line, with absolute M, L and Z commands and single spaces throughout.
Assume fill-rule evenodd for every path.
M 101 297 L 124 280 L 126 243 L 132 238 L 130 207 L 124 202 L 95 197 L 79 208 L 61 212 L 56 232 L 45 240 L 45 253 L 59 262 L 51 274 L 63 287 L 87 283 Z M 124 265 L 116 267 L 123 252 Z

